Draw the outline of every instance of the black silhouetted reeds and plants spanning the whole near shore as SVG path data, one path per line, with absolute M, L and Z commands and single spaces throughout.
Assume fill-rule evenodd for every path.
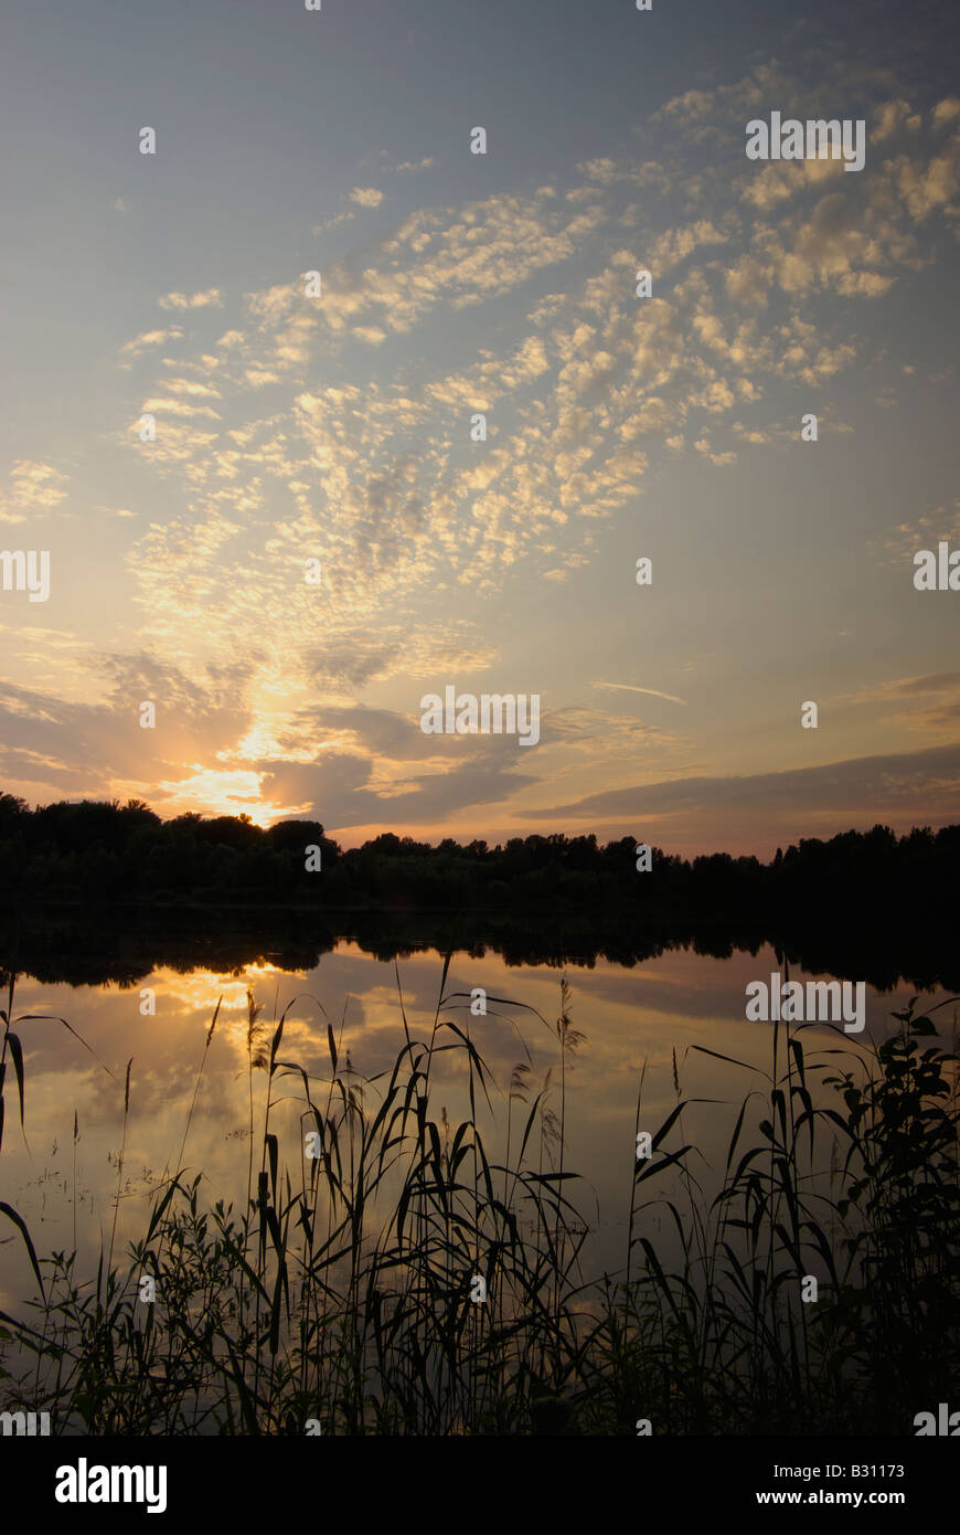
M 202 1177 L 184 1173 L 218 1004 L 176 1168 L 126 1271 L 101 1254 L 86 1283 L 75 1254 L 58 1253 L 37 1265 L 48 1276 L 31 1322 L 0 1312 L 6 1355 L 15 1346 L 20 1365 L 32 1360 L 17 1380 L 0 1374 L 5 1406 L 43 1408 L 55 1432 L 89 1434 L 304 1434 L 308 1423 L 322 1434 L 633 1434 L 638 1418 L 679 1434 L 911 1432 L 957 1368 L 957 1058 L 920 1048 L 935 1033 L 929 1015 L 911 1004 L 877 1050 L 843 1041 L 810 1061 L 802 1025 L 774 1025 L 761 1141 L 741 1150 L 755 1091 L 713 1197 L 682 1144 L 696 1101 L 681 1098 L 675 1065 L 676 1105 L 653 1156 L 633 1167 L 624 1276 L 584 1283 L 587 1226 L 564 1167 L 566 1053 L 583 1039 L 569 987 L 547 1025 L 561 1050 L 560 1116 L 549 1078 L 528 1102 L 528 1062 L 515 1067 L 498 1164 L 477 1124 L 477 1093 L 492 1108 L 494 1084 L 469 999 L 445 995 L 448 967 L 425 1039 L 400 993 L 390 1073 L 362 1081 L 342 1025 L 337 1038 L 327 1022 L 319 1088 L 281 1058 L 298 999 L 267 1045 L 248 996 L 248 1101 L 256 1070 L 265 1099 L 244 1211 L 210 1207 Z M 462 1024 L 446 1016 L 455 1012 Z M 455 1130 L 434 1111 L 442 1051 L 463 1059 L 469 1091 Z M 840 1074 L 837 1055 L 853 1058 Z M 288 1159 L 271 1130 L 285 1079 L 302 1105 Z M 129 1078 L 124 1128 L 127 1108 Z M 825 1137 L 830 1157 L 814 1165 Z M 653 1179 L 669 1183 L 659 1199 L 646 1197 Z M 670 1217 L 679 1265 L 647 1234 L 655 1210 Z M 814 1305 L 801 1300 L 808 1274 Z M 144 1276 L 155 1303 L 138 1300 Z

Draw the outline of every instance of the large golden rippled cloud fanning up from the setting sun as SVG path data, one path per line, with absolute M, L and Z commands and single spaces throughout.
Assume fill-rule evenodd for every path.
M 140 639 L 164 665 L 192 654 L 227 665 L 238 634 L 250 655 L 236 678 L 242 725 L 219 735 L 207 764 L 196 752 L 164 761 L 155 780 L 167 803 L 259 784 L 273 806 L 316 806 L 327 824 L 351 826 L 434 823 L 442 806 L 454 814 L 491 794 L 515 806 L 549 792 L 583 806 L 584 786 L 600 772 L 615 784 L 639 748 L 669 754 L 662 792 L 681 794 L 675 777 L 667 784 L 678 758 L 684 772 L 699 761 L 687 743 L 641 725 L 626 700 L 624 715 L 551 711 L 549 791 L 518 772 L 524 763 L 540 772 L 544 758 L 531 768 L 528 754 L 489 757 L 474 743 L 451 754 L 419 732 L 413 694 L 409 714 L 371 700 L 416 678 L 482 686 L 498 659 L 491 597 L 561 596 L 558 583 L 595 562 L 670 454 L 692 448 L 704 473 L 796 441 L 782 424 L 784 387 L 824 390 L 866 365 L 854 304 L 882 301 L 931 259 L 939 215 L 951 216 L 955 114 L 925 114 L 917 129 L 885 83 L 886 147 L 862 177 L 834 163 L 747 177 L 744 109 L 755 115 L 761 98 L 790 98 L 782 71 L 667 103 L 656 161 L 598 154 L 535 190 L 416 207 L 376 241 L 317 262 L 322 296 L 307 298 L 302 276 L 281 269 L 221 319 L 232 328 L 215 356 L 198 344 L 158 364 L 144 394 L 164 413 L 163 430 L 147 448 L 130 433 L 170 508 L 138 522 L 146 531 L 127 553 Z M 388 170 L 356 173 L 382 181 Z M 317 229 L 382 196 L 353 187 Z M 639 301 L 635 273 L 647 264 L 655 296 Z M 396 344 L 414 333 L 411 345 Z M 144 332 L 124 353 L 167 336 L 182 339 Z M 471 439 L 477 411 L 488 419 L 483 444 Z M 322 559 L 319 586 L 304 579 L 307 557 Z M 508 686 L 500 669 L 489 686 Z M 597 686 L 684 705 L 656 689 Z M 951 708 L 949 694 L 919 697 Z M 704 787 L 727 780 L 684 781 L 699 786 L 689 792 L 704 795 L 702 817 L 735 795 Z M 770 794 L 790 814 L 776 786 Z M 814 814 L 814 798 L 799 814 Z M 748 794 L 736 803 L 751 814 Z

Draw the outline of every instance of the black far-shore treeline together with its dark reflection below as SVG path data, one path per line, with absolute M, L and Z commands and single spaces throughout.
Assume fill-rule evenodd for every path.
M 141 801 L 29 810 L 0 795 L 2 962 L 38 979 L 133 984 L 156 964 L 308 970 L 337 939 L 511 964 L 632 966 L 667 949 L 727 958 L 773 944 L 808 973 L 960 990 L 952 913 L 960 826 L 804 838 L 764 864 L 636 843 L 526 837 L 437 847 L 385 834 L 340 850 L 319 821 L 161 821 Z M 321 849 L 308 872 L 307 849 Z

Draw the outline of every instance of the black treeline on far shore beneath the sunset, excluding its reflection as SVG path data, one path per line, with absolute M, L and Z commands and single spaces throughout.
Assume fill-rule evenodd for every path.
M 708 853 L 693 860 L 655 847 L 636 869 L 643 832 L 600 846 L 595 835 L 514 837 L 439 846 L 385 832 L 344 852 L 319 821 L 247 815 L 163 821 L 143 801 L 38 806 L 0 795 L 0 886 L 29 903 L 138 901 L 166 904 L 308 904 L 336 909 L 718 912 L 767 915 L 831 907 L 919 907 L 935 912 L 954 892 L 960 826 L 886 826 L 810 837 L 778 849 L 771 863 Z M 321 849 L 321 870 L 307 849 Z

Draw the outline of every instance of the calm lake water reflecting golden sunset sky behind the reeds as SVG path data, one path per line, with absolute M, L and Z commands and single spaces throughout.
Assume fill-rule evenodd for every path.
M 442 956 L 425 950 L 397 964 L 411 1033 L 426 1041 L 439 996 Z M 498 1091 L 491 1091 L 492 1116 L 486 1110 L 480 1114 L 491 1159 L 503 1150 L 498 1133 L 506 1128 L 506 1090 L 518 1062 L 529 1061 L 531 1098 L 552 1070 L 551 1102 L 560 1111 L 560 1051 L 554 1024 L 560 1012 L 561 975 L 570 984 L 572 1025 L 586 1039 L 567 1073 L 564 1165 L 583 1174 L 581 1183 L 570 1185 L 569 1197 L 590 1228 L 584 1277 L 600 1276 L 604 1269 L 615 1273 L 624 1265 L 636 1090 L 644 1061 L 641 1128 L 655 1131 L 676 1102 L 673 1056 L 684 1098 L 719 1101 L 692 1105 L 682 1121 L 684 1141 L 692 1142 L 704 1159 L 698 1159 L 698 1174 L 710 1185 L 713 1174 L 708 1168 L 722 1173 L 739 1104 L 758 1084 L 747 1071 L 699 1055 L 693 1047 L 707 1047 L 768 1070 L 773 1028 L 745 1019 L 744 989 L 748 981 L 768 981 L 778 969 L 778 958 L 768 947 L 758 955 L 738 952 L 730 959 L 676 950 L 633 967 L 607 961 L 589 967 L 574 962 L 563 967 L 508 966 L 489 950 L 483 958 L 460 953 L 451 961 L 448 995 L 469 995 L 474 987 L 483 987 L 491 998 L 486 1018 L 471 1016 L 463 999 L 442 1013 L 462 1025 L 469 1024 L 471 1036 L 497 1084 Z M 794 969 L 791 976 L 805 978 L 802 970 Z M 825 976 L 820 973 L 819 978 Z M 141 987 L 155 990 L 155 1016 L 141 1015 Z M 225 972 L 198 966 L 178 973 L 161 967 L 123 989 L 117 982 L 67 985 L 18 978 L 14 1012 L 61 1015 L 113 1073 L 113 1079 L 107 1076 L 58 1022 L 25 1022 L 18 1030 L 26 1058 L 26 1137 L 18 1125 L 11 1070 L 0 1154 L 3 1197 L 28 1222 L 41 1257 L 55 1249 L 71 1251 L 77 1245 L 78 1271 L 89 1276 L 95 1274 L 101 1234 L 104 1245 L 109 1243 L 123 1136 L 123 1079 L 129 1058 L 133 1059 L 130 1114 L 115 1262 L 126 1256 L 127 1240 L 143 1231 L 150 1191 L 176 1164 L 218 998 L 222 998 L 219 1021 L 184 1162 L 193 1173 L 202 1173 L 210 1203 L 221 1197 L 242 1202 L 250 1148 L 247 989 L 262 1004 L 261 1021 L 267 1025 L 296 998 L 279 1055 L 305 1067 L 319 1104 L 325 1102 L 324 1084 L 330 1079 L 328 1021 L 340 1041 L 340 1068 L 350 1051 L 351 1067 L 360 1078 L 386 1071 L 403 1044 L 394 962 L 376 959 L 353 942 L 339 942 L 305 972 L 267 962 Z M 828 1027 L 811 1027 L 805 1032 L 808 1058 L 854 1041 L 862 1045 L 882 1041 L 897 1027 L 889 1018 L 891 1010 L 903 1007 L 912 995 L 916 987 L 906 984 L 885 993 L 866 987 L 863 1035 L 843 1039 Z M 922 1010 L 945 996 L 940 990 L 925 993 Z M 543 1015 L 546 1024 L 520 1005 L 505 1005 L 492 998 L 523 1002 Z M 942 1033 L 949 1036 L 952 1008 L 943 1008 L 939 1018 Z M 270 1030 L 264 1038 L 268 1042 Z M 448 1039 L 452 1036 L 448 1035 Z M 455 1128 L 468 1113 L 462 1053 L 437 1055 L 432 1071 L 436 1096 L 431 1113 L 439 1119 L 445 1107 Z M 267 1073 L 255 1073 L 255 1167 L 261 1160 L 265 1087 Z M 279 1134 L 282 1153 L 296 1173 L 304 1107 L 299 1076 L 275 1079 L 275 1098 L 285 1101 L 275 1108 L 271 1128 Z M 820 1101 L 827 1098 L 824 1091 Z M 376 1108 L 377 1084 L 365 1087 L 365 1102 Z M 74 1111 L 80 1133 L 75 1148 Z M 526 1108 L 514 1105 L 514 1136 L 526 1113 Z M 672 1139 L 669 1144 L 679 1142 Z M 534 1164 L 538 1154 L 537 1147 Z M 547 1167 L 544 1164 L 544 1170 Z M 664 1191 L 669 1187 L 664 1183 Z M 655 1213 L 644 1230 L 659 1237 Z M 666 1223 L 662 1239 L 667 1240 Z M 34 1292 L 20 1239 L 9 1228 L 0 1237 L 0 1306 L 20 1311 L 23 1300 Z

